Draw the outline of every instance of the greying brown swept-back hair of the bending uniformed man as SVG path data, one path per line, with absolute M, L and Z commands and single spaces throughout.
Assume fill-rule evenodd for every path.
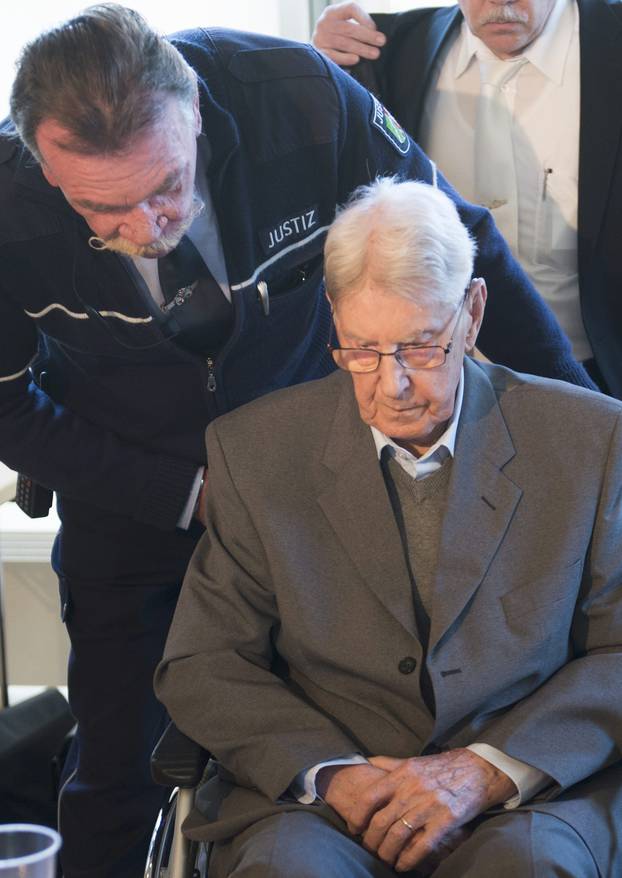
M 70 133 L 62 146 L 83 155 L 121 153 L 161 118 L 175 96 L 190 114 L 197 77 L 181 54 L 135 10 L 90 6 L 22 50 L 11 118 L 40 160 L 37 128 L 54 120 Z

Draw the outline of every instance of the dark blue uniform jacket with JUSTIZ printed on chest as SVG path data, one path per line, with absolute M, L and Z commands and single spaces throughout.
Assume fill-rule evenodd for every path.
M 333 368 L 321 253 L 336 205 L 377 174 L 434 178 L 370 94 L 310 47 L 218 30 L 172 39 L 199 75 L 235 306 L 215 362 L 167 337 L 124 258 L 90 249 L 8 125 L 0 139 L 0 459 L 64 508 L 164 529 L 205 462 L 209 421 Z M 484 352 L 589 385 L 490 215 L 451 194 L 490 289 Z

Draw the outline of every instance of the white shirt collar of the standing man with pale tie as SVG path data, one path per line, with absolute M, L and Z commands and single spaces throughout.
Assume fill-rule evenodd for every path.
M 579 10 L 575 0 L 556 0 L 540 36 L 518 55 L 527 58 L 544 76 L 561 85 L 572 37 L 579 30 Z M 496 56 L 462 22 L 460 43 L 453 75 L 459 79 L 476 59 L 495 60 Z

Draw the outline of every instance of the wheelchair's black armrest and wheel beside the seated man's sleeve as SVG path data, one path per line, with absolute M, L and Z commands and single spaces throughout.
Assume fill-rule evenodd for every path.
M 181 826 L 210 760 L 207 750 L 170 723 L 151 754 L 156 783 L 173 787 L 156 821 L 144 878 L 207 878 L 210 845 L 185 838 Z

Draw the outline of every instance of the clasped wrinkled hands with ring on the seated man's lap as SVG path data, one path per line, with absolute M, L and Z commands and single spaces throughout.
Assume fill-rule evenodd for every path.
M 367 850 L 397 872 L 422 874 L 468 837 L 465 824 L 516 793 L 506 774 L 466 749 L 331 765 L 316 785 Z

